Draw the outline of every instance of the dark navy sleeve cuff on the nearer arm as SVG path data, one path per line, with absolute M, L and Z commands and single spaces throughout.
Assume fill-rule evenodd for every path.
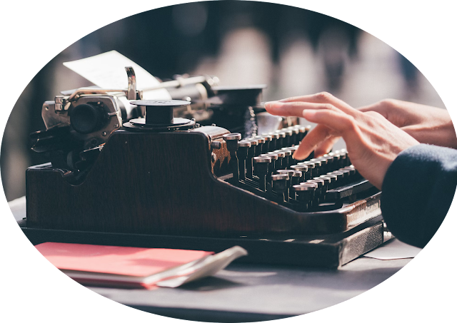
M 403 150 L 383 181 L 381 210 L 392 234 L 425 247 L 448 214 L 457 186 L 457 150 L 416 145 Z

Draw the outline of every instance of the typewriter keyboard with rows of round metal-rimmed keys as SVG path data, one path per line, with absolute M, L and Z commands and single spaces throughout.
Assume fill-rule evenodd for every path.
M 224 135 L 231 174 L 221 180 L 298 212 L 334 210 L 378 192 L 351 165 L 345 149 L 293 159 L 309 129 L 294 125 L 243 139 L 240 133 Z

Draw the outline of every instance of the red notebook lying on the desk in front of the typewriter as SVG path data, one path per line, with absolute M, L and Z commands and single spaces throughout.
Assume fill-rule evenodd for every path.
M 35 246 L 46 260 L 81 284 L 154 287 L 214 252 L 76 243 L 44 242 Z

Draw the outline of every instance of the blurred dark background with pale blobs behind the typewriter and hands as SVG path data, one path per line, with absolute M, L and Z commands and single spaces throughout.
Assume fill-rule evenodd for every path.
M 209 74 L 223 86 L 267 84 L 263 101 L 328 91 L 353 107 L 397 98 L 446 108 L 407 58 L 331 16 L 256 1 L 201 1 L 144 11 L 84 36 L 56 54 L 22 91 L 0 150 L 6 200 L 25 195 L 25 171 L 45 163 L 29 148 L 41 106 L 91 83 L 65 61 L 116 50 L 158 78 Z M 338 143 L 343 146 L 344 143 Z

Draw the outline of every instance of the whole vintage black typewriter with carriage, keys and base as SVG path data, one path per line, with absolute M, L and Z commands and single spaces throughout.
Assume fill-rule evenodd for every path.
M 244 262 L 340 267 L 391 237 L 381 192 L 346 150 L 291 155 L 310 130 L 268 119 L 265 86 L 209 76 L 164 81 L 171 100 L 84 88 L 42 107 L 21 230 L 44 241 L 221 251 Z M 189 116 L 191 118 L 189 118 Z

